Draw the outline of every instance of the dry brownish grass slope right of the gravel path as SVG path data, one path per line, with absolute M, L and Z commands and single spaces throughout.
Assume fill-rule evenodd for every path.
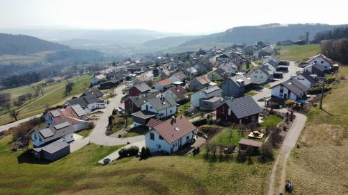
M 348 67 L 340 67 L 348 75 Z M 340 76 L 338 76 L 340 78 Z M 348 192 L 348 81 L 334 85 L 323 108 L 313 107 L 287 168 L 294 194 L 347 194 Z

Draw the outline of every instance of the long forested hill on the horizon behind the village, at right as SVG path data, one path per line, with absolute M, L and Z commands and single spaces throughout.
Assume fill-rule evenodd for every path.
M 309 39 L 311 40 L 316 33 L 329 31 L 339 26 L 329 24 L 264 24 L 260 26 L 240 26 L 230 28 L 222 33 L 215 33 L 196 40 L 189 40 L 182 44 L 182 46 L 218 42 L 255 44 L 258 41 L 276 44 L 280 40 L 299 40 L 300 38 L 304 38 L 305 32 L 309 32 Z

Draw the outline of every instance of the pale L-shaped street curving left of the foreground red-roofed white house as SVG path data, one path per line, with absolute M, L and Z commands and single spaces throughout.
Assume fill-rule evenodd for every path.
M 110 137 L 106 136 L 106 127 L 109 124 L 109 116 L 112 114 L 114 108 L 118 108 L 122 105 L 122 89 L 125 85 L 120 85 L 116 87 L 113 91 L 116 93 L 116 96 L 109 99 L 109 105 L 107 105 L 106 109 L 103 110 L 103 114 L 100 116 L 100 119 L 97 121 L 95 128 L 92 133 L 90 133 L 89 141 L 93 144 L 98 144 L 102 146 L 116 146 L 135 142 L 141 142 L 145 139 L 143 135 L 135 136 L 135 137 L 126 137 L 126 138 L 118 138 L 118 137 Z

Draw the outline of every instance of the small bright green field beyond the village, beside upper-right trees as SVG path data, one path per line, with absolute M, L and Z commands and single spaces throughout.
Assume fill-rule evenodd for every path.
M 319 53 L 319 44 L 307 44 L 307 45 L 290 45 L 279 46 L 280 60 L 298 61 L 310 56 L 315 56 Z

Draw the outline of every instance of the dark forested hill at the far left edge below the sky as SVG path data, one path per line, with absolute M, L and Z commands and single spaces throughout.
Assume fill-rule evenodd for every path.
M 0 33 L 0 55 L 27 55 L 40 51 L 68 50 L 69 46 L 40 40 L 28 35 Z

